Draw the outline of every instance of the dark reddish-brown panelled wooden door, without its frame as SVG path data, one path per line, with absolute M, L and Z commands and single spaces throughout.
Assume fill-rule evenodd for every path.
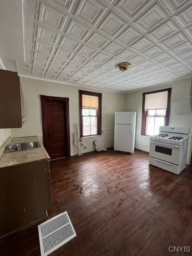
M 47 150 L 51 159 L 67 156 L 65 104 L 46 100 Z

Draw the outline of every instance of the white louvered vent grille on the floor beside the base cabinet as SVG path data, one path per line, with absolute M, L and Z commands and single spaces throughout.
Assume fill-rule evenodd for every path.
M 41 256 L 46 256 L 76 236 L 67 212 L 38 225 Z

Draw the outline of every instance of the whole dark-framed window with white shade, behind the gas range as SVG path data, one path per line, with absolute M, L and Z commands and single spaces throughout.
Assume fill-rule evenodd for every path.
M 169 124 L 171 88 L 143 93 L 141 135 L 159 133 L 159 126 Z

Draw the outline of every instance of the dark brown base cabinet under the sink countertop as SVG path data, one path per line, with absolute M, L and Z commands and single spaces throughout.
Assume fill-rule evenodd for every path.
M 50 205 L 48 160 L 0 168 L 0 236 L 43 220 Z

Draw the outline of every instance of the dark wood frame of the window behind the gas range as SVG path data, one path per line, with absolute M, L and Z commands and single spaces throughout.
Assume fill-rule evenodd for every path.
M 168 126 L 169 125 L 169 116 L 170 116 L 171 90 L 172 90 L 172 88 L 166 88 L 166 89 L 162 89 L 162 90 L 156 90 L 156 91 L 144 92 L 143 93 L 141 135 L 150 136 L 150 135 L 146 134 L 146 119 L 147 119 L 147 110 L 145 110 L 145 96 L 146 96 L 146 94 L 168 91 L 167 108 L 166 108 L 166 115 L 165 115 L 165 122 L 164 122 L 164 125 Z

